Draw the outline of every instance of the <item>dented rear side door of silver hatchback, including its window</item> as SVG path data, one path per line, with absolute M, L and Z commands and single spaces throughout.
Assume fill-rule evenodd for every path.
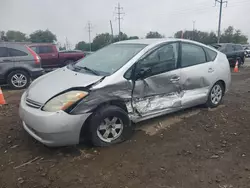
M 205 103 L 215 75 L 215 63 L 206 57 L 204 48 L 195 44 L 181 44 L 182 107 Z

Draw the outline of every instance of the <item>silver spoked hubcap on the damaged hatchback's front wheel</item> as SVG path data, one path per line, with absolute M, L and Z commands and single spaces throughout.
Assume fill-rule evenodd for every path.
M 102 141 L 111 142 L 121 136 L 122 131 L 122 120 L 117 117 L 108 117 L 98 127 L 97 135 Z

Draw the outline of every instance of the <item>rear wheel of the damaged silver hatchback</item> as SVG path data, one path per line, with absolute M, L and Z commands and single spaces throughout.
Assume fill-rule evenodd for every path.
M 215 93 L 217 93 L 217 94 L 215 94 Z M 216 82 L 213 85 L 211 91 L 209 92 L 208 99 L 207 99 L 207 102 L 205 104 L 206 107 L 216 108 L 217 106 L 219 106 L 222 102 L 224 93 L 225 93 L 225 88 L 224 88 L 223 84 L 221 82 Z

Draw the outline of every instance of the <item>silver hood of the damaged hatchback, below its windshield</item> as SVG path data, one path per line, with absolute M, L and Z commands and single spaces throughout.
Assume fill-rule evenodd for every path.
M 76 87 L 87 87 L 101 80 L 103 76 L 74 72 L 61 68 L 35 80 L 27 90 L 27 98 L 44 104 L 60 92 Z

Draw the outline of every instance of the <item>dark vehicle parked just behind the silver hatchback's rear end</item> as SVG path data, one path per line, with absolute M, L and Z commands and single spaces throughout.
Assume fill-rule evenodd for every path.
M 244 64 L 245 62 L 245 51 L 240 44 L 233 43 L 220 43 L 212 45 L 217 50 L 226 54 L 230 66 L 235 66 L 236 61 L 238 61 L 238 66 Z

